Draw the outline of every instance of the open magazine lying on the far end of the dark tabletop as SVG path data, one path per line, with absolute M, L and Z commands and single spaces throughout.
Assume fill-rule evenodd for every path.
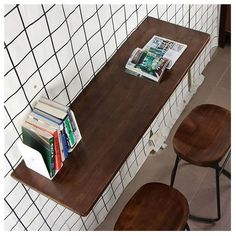
M 171 69 L 186 48 L 186 44 L 153 36 L 142 49 L 133 51 L 125 66 L 126 71 L 159 82 L 165 69 Z

